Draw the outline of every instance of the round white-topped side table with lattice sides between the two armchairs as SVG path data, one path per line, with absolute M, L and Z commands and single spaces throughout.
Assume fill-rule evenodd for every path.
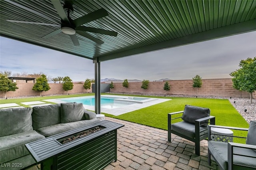
M 233 142 L 233 131 L 227 128 L 211 128 L 211 140 L 221 142 Z M 226 136 L 229 135 L 229 136 Z

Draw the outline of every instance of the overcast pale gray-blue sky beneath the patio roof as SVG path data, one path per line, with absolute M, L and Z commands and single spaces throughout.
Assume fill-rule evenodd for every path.
M 256 56 L 256 32 L 101 62 L 101 79 L 231 78 L 242 59 Z M 94 79 L 92 60 L 0 37 L 0 71 Z

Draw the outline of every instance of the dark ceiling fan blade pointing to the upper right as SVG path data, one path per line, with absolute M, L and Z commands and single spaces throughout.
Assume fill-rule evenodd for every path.
M 74 20 L 74 25 L 75 27 L 78 27 L 88 22 L 98 20 L 104 16 L 108 16 L 108 12 L 105 9 L 101 8 L 99 10 L 91 12 L 90 14 L 77 18 L 76 20 Z

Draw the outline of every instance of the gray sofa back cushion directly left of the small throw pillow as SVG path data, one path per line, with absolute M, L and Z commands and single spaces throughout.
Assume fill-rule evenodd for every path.
M 60 123 L 60 104 L 33 107 L 33 129 Z

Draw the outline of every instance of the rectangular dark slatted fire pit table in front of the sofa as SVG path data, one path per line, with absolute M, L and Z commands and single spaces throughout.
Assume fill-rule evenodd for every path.
M 25 144 L 41 170 L 100 170 L 117 161 L 117 129 L 100 121 Z

